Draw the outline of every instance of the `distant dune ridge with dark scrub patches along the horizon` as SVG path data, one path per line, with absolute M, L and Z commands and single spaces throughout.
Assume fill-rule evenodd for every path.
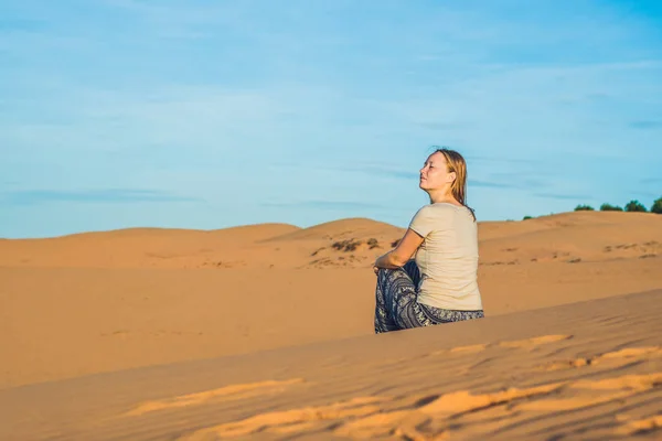
M 479 224 L 481 265 L 607 261 L 662 252 L 662 217 L 575 212 Z M 263 224 L 218 230 L 130 228 L 50 239 L 3 240 L 2 267 L 367 268 L 404 234 L 365 219 L 310 228 Z

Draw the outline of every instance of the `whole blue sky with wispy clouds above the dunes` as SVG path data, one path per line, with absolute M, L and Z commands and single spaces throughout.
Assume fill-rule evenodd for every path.
M 659 1 L 0 0 L 0 237 L 662 195 Z

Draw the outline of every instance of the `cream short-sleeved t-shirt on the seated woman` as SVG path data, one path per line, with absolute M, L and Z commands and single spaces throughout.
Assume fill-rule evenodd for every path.
M 478 289 L 478 225 L 469 208 L 423 206 L 409 228 L 425 238 L 416 251 L 418 302 L 447 310 L 482 310 Z

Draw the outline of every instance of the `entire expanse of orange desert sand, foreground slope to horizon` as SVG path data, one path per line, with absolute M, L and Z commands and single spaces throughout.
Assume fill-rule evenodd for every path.
M 404 230 L 0 240 L 0 439 L 655 439 L 662 216 L 479 224 L 485 319 L 374 335 Z

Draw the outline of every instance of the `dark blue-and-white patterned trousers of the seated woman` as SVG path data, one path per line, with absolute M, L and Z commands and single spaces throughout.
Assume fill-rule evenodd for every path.
M 375 334 L 484 316 L 482 310 L 445 310 L 418 303 L 416 287 L 419 280 L 420 271 L 414 260 L 409 260 L 402 268 L 380 269 L 376 288 Z

